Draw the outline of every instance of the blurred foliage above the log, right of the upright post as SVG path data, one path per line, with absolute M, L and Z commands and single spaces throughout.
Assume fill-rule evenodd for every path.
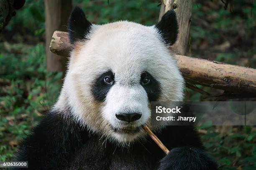
M 255 25 L 255 1 L 233 0 L 232 12 L 224 10 L 222 2 L 195 1 L 191 55 L 256 67 Z

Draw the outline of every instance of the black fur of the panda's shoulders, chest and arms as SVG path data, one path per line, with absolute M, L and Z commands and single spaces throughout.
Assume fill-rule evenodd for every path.
M 156 133 L 167 148 L 173 149 L 165 155 L 150 138 L 123 148 L 89 134 L 73 117 L 63 115 L 70 113 L 46 115 L 20 144 L 16 160 L 28 161 L 31 170 L 216 169 L 192 126 L 168 126 Z

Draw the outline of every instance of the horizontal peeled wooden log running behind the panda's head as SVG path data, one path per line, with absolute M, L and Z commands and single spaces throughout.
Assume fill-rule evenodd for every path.
M 71 49 L 67 32 L 55 31 L 51 39 L 51 52 L 67 56 Z M 187 82 L 256 96 L 256 69 L 184 55 L 175 57 Z

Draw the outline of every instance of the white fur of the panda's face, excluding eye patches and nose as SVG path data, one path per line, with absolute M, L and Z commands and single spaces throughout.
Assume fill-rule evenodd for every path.
M 78 122 L 94 133 L 118 142 L 131 142 L 145 133 L 134 135 L 115 133 L 116 128 L 127 126 L 118 120 L 118 112 L 141 112 L 142 117 L 132 125 L 150 126 L 150 103 L 140 85 L 143 71 L 149 72 L 161 86 L 159 101 L 181 101 L 184 80 L 169 49 L 161 41 L 154 26 L 120 21 L 93 25 L 90 40 L 82 43 L 78 52 L 71 52 L 69 70 L 61 95 L 54 109 L 69 105 Z M 105 102 L 96 102 L 91 86 L 97 76 L 112 70 L 115 84 Z M 153 127 L 154 128 L 154 127 Z

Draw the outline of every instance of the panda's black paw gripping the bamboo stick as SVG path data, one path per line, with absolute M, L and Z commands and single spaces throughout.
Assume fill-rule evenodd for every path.
M 174 148 L 160 161 L 158 170 L 217 170 L 215 160 L 198 148 Z

